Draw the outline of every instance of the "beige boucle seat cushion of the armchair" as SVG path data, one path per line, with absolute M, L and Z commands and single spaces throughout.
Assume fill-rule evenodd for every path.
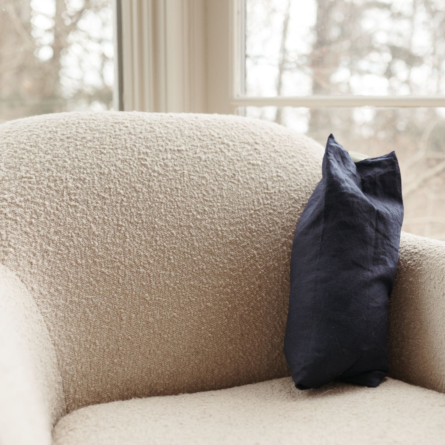
M 57 445 L 439 444 L 445 394 L 385 378 L 298 391 L 290 377 L 92 405 L 62 417 Z

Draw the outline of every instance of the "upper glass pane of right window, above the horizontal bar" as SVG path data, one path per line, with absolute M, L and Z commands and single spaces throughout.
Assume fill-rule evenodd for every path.
M 245 2 L 240 93 L 445 93 L 443 0 Z

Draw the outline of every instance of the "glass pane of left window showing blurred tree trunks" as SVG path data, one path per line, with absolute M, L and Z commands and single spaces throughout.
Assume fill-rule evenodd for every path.
M 0 122 L 112 107 L 110 0 L 0 0 Z

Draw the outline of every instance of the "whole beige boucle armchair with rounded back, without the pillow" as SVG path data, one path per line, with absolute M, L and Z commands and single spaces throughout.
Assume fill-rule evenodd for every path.
M 402 234 L 390 378 L 294 388 L 293 231 L 322 147 L 218 115 L 0 126 L 0 444 L 445 443 L 445 245 Z

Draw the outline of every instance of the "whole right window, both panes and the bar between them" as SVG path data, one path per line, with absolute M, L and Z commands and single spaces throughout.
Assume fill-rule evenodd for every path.
M 234 94 L 250 117 L 378 156 L 396 150 L 403 229 L 445 240 L 445 4 L 235 1 Z

